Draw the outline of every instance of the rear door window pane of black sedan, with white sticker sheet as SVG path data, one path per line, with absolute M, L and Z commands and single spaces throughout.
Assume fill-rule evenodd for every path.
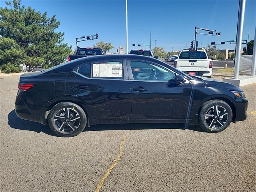
M 124 79 L 122 61 L 96 62 L 91 66 L 92 78 Z

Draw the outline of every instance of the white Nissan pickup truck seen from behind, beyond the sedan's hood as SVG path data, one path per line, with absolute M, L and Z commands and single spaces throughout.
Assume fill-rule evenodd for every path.
M 174 61 L 174 67 L 189 75 L 212 76 L 212 60 L 204 50 L 183 50 Z

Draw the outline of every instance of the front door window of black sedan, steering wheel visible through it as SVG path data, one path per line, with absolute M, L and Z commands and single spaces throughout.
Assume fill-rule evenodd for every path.
M 174 81 L 176 74 L 163 66 L 146 61 L 130 60 L 134 80 Z

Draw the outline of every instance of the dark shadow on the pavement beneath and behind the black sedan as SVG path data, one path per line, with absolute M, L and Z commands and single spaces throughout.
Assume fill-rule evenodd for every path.
M 12 110 L 8 114 L 8 125 L 11 128 L 18 130 L 28 130 L 37 133 L 43 132 L 50 136 L 58 135 L 54 134 L 48 125 L 42 125 L 38 122 L 32 122 L 19 118 L 15 111 Z M 182 123 L 135 123 L 135 124 L 104 124 L 104 125 L 91 125 L 86 126 L 83 132 L 87 131 L 104 131 L 104 130 L 150 130 L 150 129 L 181 129 L 181 130 L 193 130 L 197 132 L 204 132 L 200 127 L 194 125 L 186 125 Z

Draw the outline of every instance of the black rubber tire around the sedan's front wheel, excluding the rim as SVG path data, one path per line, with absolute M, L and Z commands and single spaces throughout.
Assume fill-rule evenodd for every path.
M 226 123 L 224 124 L 224 126 L 220 127 L 220 128 L 216 128 L 216 129 L 211 129 L 205 122 L 204 118 L 205 118 L 205 115 L 206 115 L 206 112 L 213 106 L 222 106 L 223 108 L 225 108 L 228 112 L 228 119 L 226 121 Z M 225 130 L 231 123 L 232 121 L 232 117 L 233 117 L 233 112 L 232 112 L 232 109 L 230 108 L 230 106 L 222 101 L 222 100 L 211 100 L 211 101 L 208 101 L 206 103 L 204 103 L 202 105 L 202 109 L 200 111 L 200 114 L 199 114 L 199 118 L 198 118 L 198 121 L 199 121 L 199 126 L 205 130 L 206 132 L 221 132 L 223 130 Z

